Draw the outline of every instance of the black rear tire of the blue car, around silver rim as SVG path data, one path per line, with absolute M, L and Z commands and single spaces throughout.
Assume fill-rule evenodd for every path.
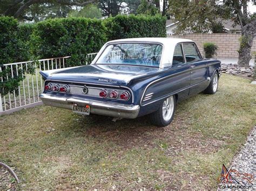
M 161 102 L 159 109 L 149 115 L 152 124 L 156 126 L 167 126 L 172 122 L 176 110 L 176 97 L 174 95 L 170 97 L 173 97 L 173 112 L 170 119 L 166 121 L 163 117 L 163 105 L 165 102 L 164 100 L 163 102 Z

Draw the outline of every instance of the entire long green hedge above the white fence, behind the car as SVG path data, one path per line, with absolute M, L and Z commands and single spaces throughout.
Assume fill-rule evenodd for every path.
M 0 64 L 71 55 L 71 65 L 80 65 L 87 53 L 98 52 L 107 40 L 166 37 L 165 21 L 160 15 L 118 15 L 19 25 L 12 17 L 0 17 Z

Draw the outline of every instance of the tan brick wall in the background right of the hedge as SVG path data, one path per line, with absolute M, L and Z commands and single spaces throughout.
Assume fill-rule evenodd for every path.
M 203 55 L 203 42 L 215 43 L 218 49 L 217 58 L 238 58 L 239 37 L 241 34 L 185 34 L 183 36 L 168 36 L 169 38 L 186 38 L 193 40 Z M 252 52 L 256 52 L 256 39 L 253 40 Z

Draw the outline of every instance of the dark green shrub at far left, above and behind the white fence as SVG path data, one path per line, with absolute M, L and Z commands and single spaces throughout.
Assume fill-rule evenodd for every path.
M 28 37 L 28 34 L 26 34 Z M 6 95 L 10 91 L 18 90 L 19 82 L 24 79 L 25 70 L 11 74 L 11 67 L 3 67 L 4 63 L 26 61 L 30 59 L 29 46 L 19 37 L 19 27 L 16 19 L 0 17 L 0 94 Z M 12 68 L 16 71 L 16 68 Z M 32 70 L 31 70 L 32 72 Z

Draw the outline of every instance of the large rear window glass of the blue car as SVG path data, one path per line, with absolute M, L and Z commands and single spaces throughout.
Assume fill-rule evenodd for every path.
M 159 66 L 162 50 L 163 46 L 158 44 L 112 44 L 105 48 L 96 63 Z

